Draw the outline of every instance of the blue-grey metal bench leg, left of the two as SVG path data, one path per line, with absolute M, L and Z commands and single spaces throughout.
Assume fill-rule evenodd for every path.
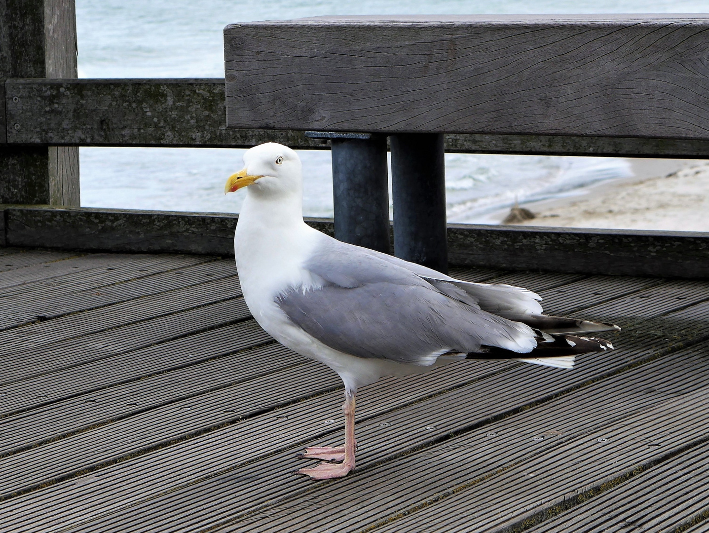
M 333 138 L 335 238 L 389 253 L 386 138 Z

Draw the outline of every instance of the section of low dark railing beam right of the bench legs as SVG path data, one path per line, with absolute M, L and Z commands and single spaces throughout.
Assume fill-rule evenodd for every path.
M 448 225 L 451 264 L 707 279 L 709 234 Z M 524 267 L 522 267 L 524 265 Z

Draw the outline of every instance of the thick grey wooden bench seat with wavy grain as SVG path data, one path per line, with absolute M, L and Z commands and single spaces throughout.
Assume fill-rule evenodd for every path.
M 709 139 L 706 16 L 227 26 L 233 128 Z

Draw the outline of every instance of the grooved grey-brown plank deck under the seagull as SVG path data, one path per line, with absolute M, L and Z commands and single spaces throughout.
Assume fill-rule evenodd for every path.
M 623 326 L 573 371 L 464 361 L 358 397 L 250 317 L 232 259 L 0 248 L 3 532 L 709 530 L 709 281 L 457 269 Z

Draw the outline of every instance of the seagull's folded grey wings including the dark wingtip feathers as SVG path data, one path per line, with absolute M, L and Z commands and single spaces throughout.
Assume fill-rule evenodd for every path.
M 460 281 L 335 240 L 325 240 L 303 268 L 320 285 L 279 294 L 281 310 L 320 342 L 357 357 L 428 366 L 458 353 L 571 368 L 581 351 L 559 352 L 556 336 L 619 329 L 542 315 L 542 298 L 525 288 Z

